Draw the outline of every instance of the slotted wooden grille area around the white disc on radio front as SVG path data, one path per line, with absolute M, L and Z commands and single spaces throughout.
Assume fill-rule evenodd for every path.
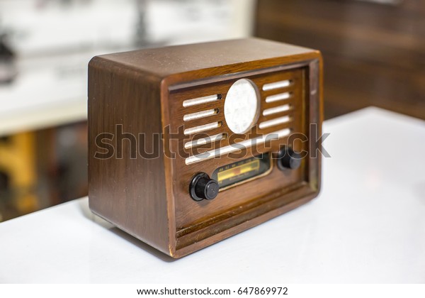
M 181 117 L 183 133 L 188 137 L 179 143 L 189 150 L 188 157 L 185 158 L 186 165 L 247 148 L 254 138 L 256 144 L 260 145 L 266 142 L 266 138 L 289 136 L 294 128 L 295 108 L 299 108 L 296 103 L 300 100 L 295 96 L 300 97 L 303 94 L 301 74 L 300 70 L 296 70 L 245 77 L 256 84 L 261 100 L 259 118 L 254 125 L 259 136 L 250 136 L 251 139 L 246 135 L 240 135 L 241 138 L 237 141 L 229 138 L 233 133 L 227 126 L 223 113 L 229 87 L 243 77 L 215 84 L 206 83 L 205 86 L 197 82 L 196 88 L 179 92 L 180 108 L 177 109 L 181 111 L 175 114 Z M 192 94 L 200 96 L 191 96 Z M 173 112 L 171 116 L 174 116 Z M 211 150 L 212 148 L 214 149 Z

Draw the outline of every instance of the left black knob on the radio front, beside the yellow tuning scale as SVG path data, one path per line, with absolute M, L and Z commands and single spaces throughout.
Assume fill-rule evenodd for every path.
M 219 190 L 218 182 L 211 179 L 206 173 L 196 174 L 189 187 L 192 199 L 202 201 L 203 199 L 214 199 Z

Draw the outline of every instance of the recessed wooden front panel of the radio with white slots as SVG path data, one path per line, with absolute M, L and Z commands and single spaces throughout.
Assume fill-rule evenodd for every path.
M 202 227 L 202 223 L 220 220 L 224 214 L 244 212 L 244 207 L 249 208 L 247 203 L 259 197 L 273 199 L 283 189 L 307 182 L 307 159 L 295 170 L 280 170 L 276 166 L 276 156 L 288 145 L 292 133 L 308 134 L 308 69 L 280 68 L 209 78 L 206 82 L 197 80 L 194 86 L 184 82 L 181 89 L 179 85 L 170 88 L 169 116 L 173 119 L 170 129 L 173 133 L 179 133 L 180 129 L 180 139 L 171 142 L 171 151 L 179 153 L 172 162 L 177 173 L 173 193 L 178 234 L 184 234 L 188 228 L 193 231 L 194 226 Z M 228 125 L 225 103 L 229 90 L 242 79 L 251 82 L 258 92 L 258 116 L 249 131 L 234 133 Z M 239 144 L 242 145 L 239 147 Z M 308 150 L 308 143 L 294 144 L 295 151 Z M 265 162 L 260 163 L 261 158 L 256 158 L 259 155 L 266 155 L 268 168 L 264 169 Z M 210 177 L 218 177 L 215 172 L 220 169 L 227 170 L 229 175 L 232 167 L 243 169 L 242 164 L 252 158 L 262 166 L 257 172 L 251 170 L 246 177 L 233 177 L 237 180 L 233 183 L 227 179 L 225 187 L 220 186 L 213 200 L 191 199 L 189 184 L 193 175 L 206 172 Z M 251 166 L 256 164 L 251 162 Z M 256 189 L 255 197 L 252 189 Z M 267 203 L 267 199 L 263 201 Z

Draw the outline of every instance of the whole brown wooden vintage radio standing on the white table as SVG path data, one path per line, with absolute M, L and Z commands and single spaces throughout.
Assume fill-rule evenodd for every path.
M 94 57 L 90 208 L 180 258 L 317 196 L 321 125 L 317 50 L 243 39 Z

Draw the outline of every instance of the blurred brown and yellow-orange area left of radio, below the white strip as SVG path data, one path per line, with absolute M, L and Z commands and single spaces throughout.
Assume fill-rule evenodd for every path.
M 0 136 L 0 221 L 87 194 L 86 121 Z

